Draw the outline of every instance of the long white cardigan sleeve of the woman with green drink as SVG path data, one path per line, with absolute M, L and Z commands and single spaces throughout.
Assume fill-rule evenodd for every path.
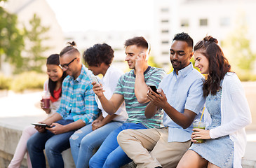
M 227 120 L 230 120 L 230 118 L 233 118 L 233 120 L 224 122 L 224 124 L 220 125 L 219 127 L 210 130 L 210 137 L 212 139 L 232 134 L 252 123 L 250 108 L 248 106 L 240 80 L 237 76 L 229 76 L 229 79 L 231 80 L 227 81 L 227 84 L 223 85 L 222 90 L 222 116 L 225 116 Z M 224 92 L 224 89 L 227 90 Z

